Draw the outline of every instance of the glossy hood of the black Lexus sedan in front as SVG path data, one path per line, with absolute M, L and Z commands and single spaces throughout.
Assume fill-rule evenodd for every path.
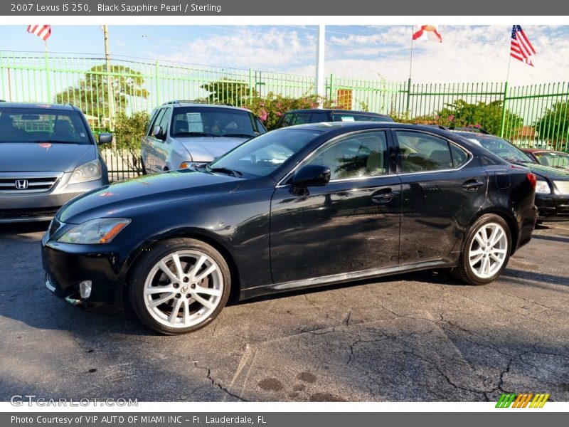
M 130 209 L 225 194 L 238 189 L 245 180 L 223 174 L 197 172 L 193 169 L 170 171 L 119 181 L 78 196 L 57 214 L 64 223 L 83 223 L 94 218 L 127 216 Z

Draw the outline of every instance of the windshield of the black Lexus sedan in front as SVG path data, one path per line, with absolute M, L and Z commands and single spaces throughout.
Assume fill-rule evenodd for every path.
M 315 130 L 275 130 L 241 144 L 207 169 L 238 176 L 267 176 L 319 135 L 321 132 Z

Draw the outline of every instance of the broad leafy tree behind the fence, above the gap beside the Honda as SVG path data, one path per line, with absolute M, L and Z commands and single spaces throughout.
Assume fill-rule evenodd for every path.
M 95 65 L 85 73 L 85 78 L 55 95 L 55 102 L 77 105 L 86 115 L 96 117 L 102 124 L 102 120 L 110 116 L 110 88 L 114 97 L 113 111 L 117 114 L 127 110 L 132 97 L 148 97 L 143 85 L 144 78 L 132 68 L 111 65 L 107 73 L 107 65 Z

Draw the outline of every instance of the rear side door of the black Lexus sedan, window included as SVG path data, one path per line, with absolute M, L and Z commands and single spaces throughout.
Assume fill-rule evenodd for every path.
M 393 130 L 402 184 L 400 263 L 447 259 L 486 198 L 488 177 L 465 149 L 428 132 Z

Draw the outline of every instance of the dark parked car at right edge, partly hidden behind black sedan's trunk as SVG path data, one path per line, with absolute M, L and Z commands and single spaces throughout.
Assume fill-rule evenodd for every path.
M 569 220 L 569 172 L 535 162 L 506 139 L 490 135 L 484 130 L 458 130 L 458 135 L 482 145 L 512 164 L 528 167 L 538 177 L 536 206 L 538 221 Z

